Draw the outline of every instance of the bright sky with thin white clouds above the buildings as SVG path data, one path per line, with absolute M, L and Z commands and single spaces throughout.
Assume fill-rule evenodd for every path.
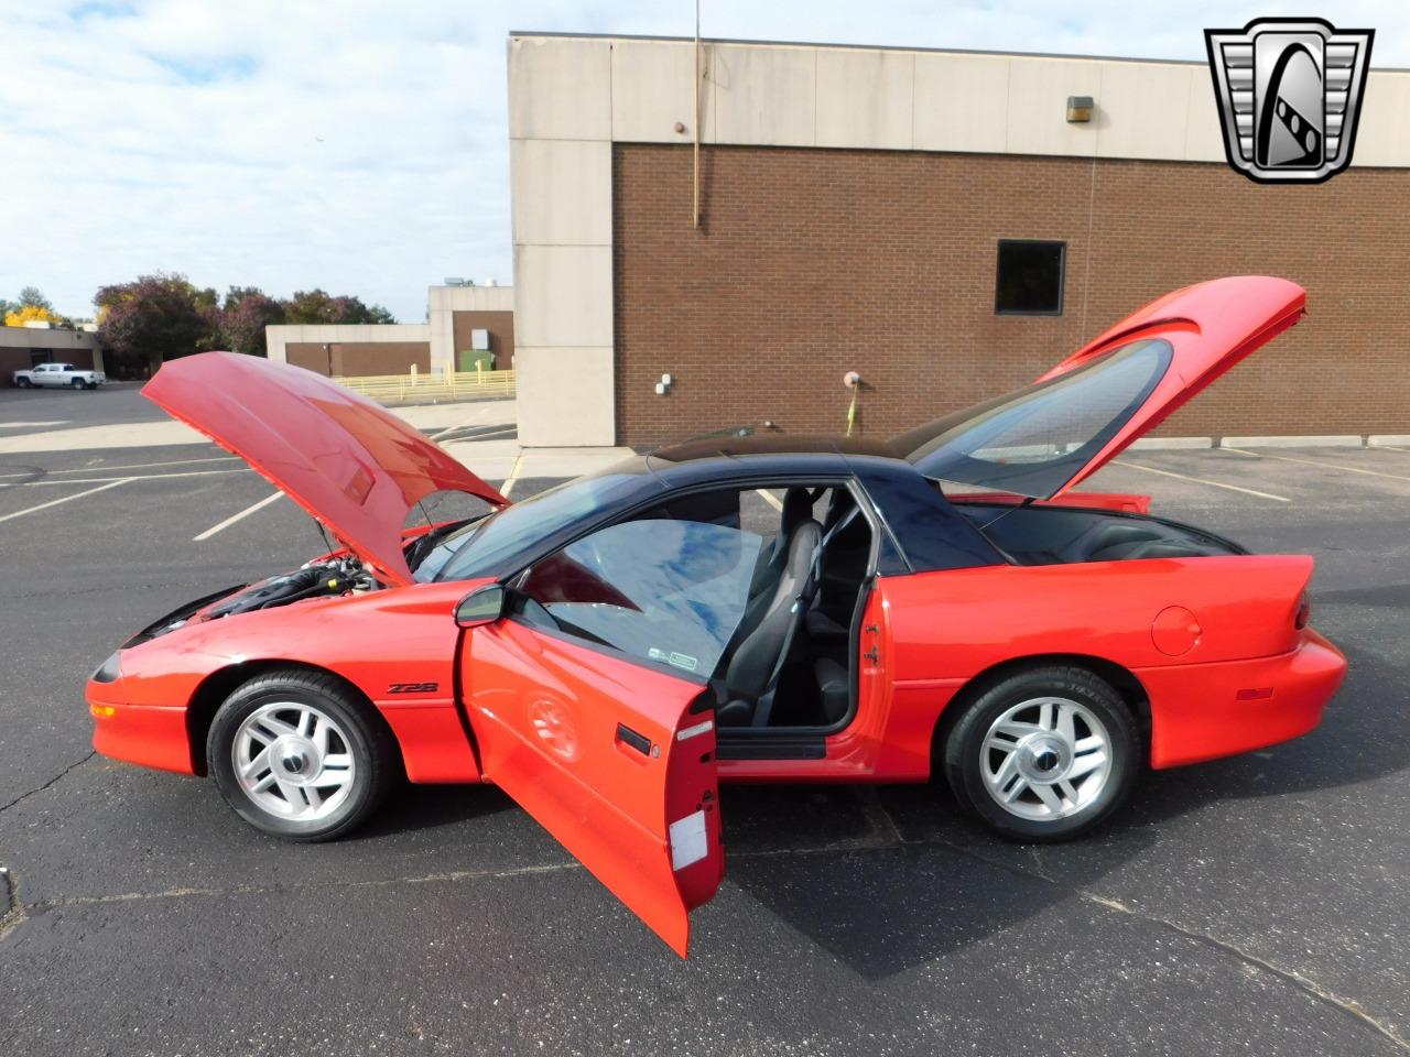
M 1406 3 L 701 0 L 704 35 L 1204 61 L 1206 27 L 1321 16 L 1410 68 Z M 0 297 L 92 316 L 157 271 L 426 316 L 512 282 L 505 41 L 687 37 L 694 0 L 0 0 Z

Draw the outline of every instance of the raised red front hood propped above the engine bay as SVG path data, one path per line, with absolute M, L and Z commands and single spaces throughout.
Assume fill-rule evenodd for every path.
M 392 583 L 410 583 L 406 514 L 433 492 L 509 500 L 379 404 L 238 352 L 164 364 L 142 396 L 238 455 Z

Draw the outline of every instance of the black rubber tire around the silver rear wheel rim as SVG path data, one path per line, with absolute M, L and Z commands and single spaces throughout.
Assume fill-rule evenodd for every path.
M 1046 785 L 1046 782 L 1025 784 L 1021 781 L 1021 774 L 1015 775 L 1015 788 L 1024 788 L 1024 792 L 1015 801 L 1014 808 L 1001 806 L 1000 793 L 990 792 L 986 774 L 990 771 L 1001 774 L 1003 768 L 995 765 L 995 760 L 1007 761 L 1008 754 L 1000 748 L 986 747 L 986 741 L 991 727 L 1005 713 L 1019 706 L 1036 709 L 1039 706 L 1028 705 L 1028 702 L 1043 698 L 1056 698 L 1076 706 L 1072 712 L 1077 715 L 1077 731 L 1079 734 L 1083 730 L 1087 731 L 1079 740 L 1097 734 L 1104 736 L 1110 747 L 1108 764 L 1105 778 L 1096 786 L 1090 801 L 1081 803 L 1080 808 L 1069 809 L 1067 806 L 1069 803 L 1080 803 L 1080 798 L 1070 801 L 1059 793 L 1063 810 L 1072 810 L 1072 813 L 1053 817 L 1025 817 L 1019 812 L 1045 810 L 1036 786 Z M 994 684 L 962 707 L 963 712 L 949 729 L 945 744 L 939 747 L 945 777 L 955 791 L 955 796 L 970 813 L 1010 840 L 1046 843 L 1070 840 L 1087 833 L 1121 806 L 1141 769 L 1141 736 L 1131 709 L 1110 684 L 1086 668 L 1067 665 L 1029 668 Z M 1081 717 L 1083 712 L 1090 720 L 1096 720 L 1103 730 L 1093 729 L 1089 719 Z M 1018 712 L 1017 715 L 1032 716 L 1034 713 Z M 1017 750 L 1012 754 L 1017 769 L 1017 761 L 1025 757 Z M 1072 758 L 1074 757 L 1069 757 L 1069 760 Z M 1028 750 L 1026 761 L 1035 774 L 1052 774 L 1053 778 L 1065 774 L 1060 758 L 1052 764 L 1050 771 L 1042 771 L 1048 760 L 1045 753 Z M 1067 788 L 1072 788 L 1072 782 Z

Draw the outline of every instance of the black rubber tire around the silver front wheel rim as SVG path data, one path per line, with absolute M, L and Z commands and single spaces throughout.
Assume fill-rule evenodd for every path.
M 334 738 L 352 760 L 345 798 L 324 817 L 281 817 L 247 793 L 235 777 L 234 748 L 241 726 L 255 712 L 276 703 L 321 712 L 333 720 Z M 398 774 L 392 736 L 371 706 L 331 675 L 298 668 L 261 675 L 235 689 L 210 724 L 206 760 L 220 795 L 240 817 L 264 833 L 306 843 L 337 840 L 367 822 Z

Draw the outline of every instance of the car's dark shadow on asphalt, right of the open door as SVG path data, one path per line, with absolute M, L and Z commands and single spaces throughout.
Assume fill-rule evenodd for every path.
M 728 788 L 728 881 L 866 978 L 984 943 L 1100 889 L 1103 878 L 1132 861 L 1163 861 L 1159 844 L 1167 830 L 1179 830 L 1170 840 L 1204 841 L 1204 854 L 1218 855 L 1266 837 L 1268 826 L 1294 824 L 1287 816 L 1306 810 L 1303 795 L 1410 765 L 1402 723 L 1406 669 L 1347 653 L 1347 685 L 1318 730 L 1259 753 L 1146 771 L 1110 823 L 1067 844 L 1004 841 L 963 815 L 942 784 Z M 1263 798 L 1275 798 L 1266 813 L 1258 806 L 1251 817 L 1218 810 Z M 1251 824 L 1258 834 L 1248 832 Z

